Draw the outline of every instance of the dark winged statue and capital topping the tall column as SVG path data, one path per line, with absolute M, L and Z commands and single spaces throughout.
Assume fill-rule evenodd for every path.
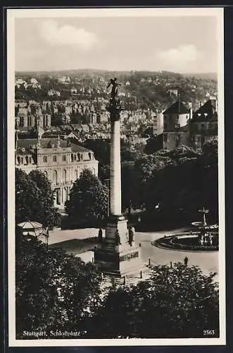
M 111 113 L 110 117 L 111 117 L 111 121 L 117 121 L 120 119 L 120 110 L 121 110 L 121 104 L 120 104 L 120 99 L 118 97 L 118 86 L 121 85 L 120 83 L 118 83 L 118 79 L 115 78 L 111 78 L 108 81 L 108 85 L 107 85 L 107 89 L 112 86 L 111 88 L 111 93 L 110 93 L 110 100 L 109 100 L 109 104 L 106 107 L 106 109 L 108 110 L 108 112 Z

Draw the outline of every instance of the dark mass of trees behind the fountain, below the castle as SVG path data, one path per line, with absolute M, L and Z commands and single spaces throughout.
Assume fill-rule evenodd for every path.
M 141 203 L 154 213 L 149 219 L 184 225 L 199 220 L 198 210 L 205 205 L 208 219 L 218 222 L 218 141 L 209 141 L 202 150 L 180 146 L 142 155 L 135 169 Z

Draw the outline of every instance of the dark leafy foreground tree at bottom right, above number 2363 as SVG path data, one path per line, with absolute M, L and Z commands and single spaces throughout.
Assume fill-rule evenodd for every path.
M 111 289 L 96 311 L 88 337 L 184 338 L 219 335 L 218 283 L 182 263 L 153 268 L 149 280 Z

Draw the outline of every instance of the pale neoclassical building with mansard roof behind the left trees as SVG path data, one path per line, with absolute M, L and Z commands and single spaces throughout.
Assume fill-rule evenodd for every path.
M 51 181 L 58 208 L 63 208 L 83 169 L 98 176 L 98 163 L 92 150 L 60 138 L 20 139 L 15 143 L 15 167 L 26 173 L 34 169 L 44 172 Z

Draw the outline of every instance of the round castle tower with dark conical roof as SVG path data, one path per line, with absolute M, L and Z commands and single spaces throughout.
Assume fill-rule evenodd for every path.
M 163 112 L 163 148 L 173 150 L 189 144 L 190 110 L 180 97 Z

